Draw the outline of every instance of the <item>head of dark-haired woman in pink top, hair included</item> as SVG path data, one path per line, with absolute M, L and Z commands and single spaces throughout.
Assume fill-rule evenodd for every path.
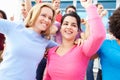
M 61 20 L 62 38 L 75 40 L 78 32 L 81 30 L 80 17 L 76 12 L 65 14 Z

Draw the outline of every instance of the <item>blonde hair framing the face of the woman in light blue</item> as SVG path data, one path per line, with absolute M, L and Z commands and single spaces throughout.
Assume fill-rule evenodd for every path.
M 39 4 L 36 4 L 35 6 L 33 6 L 31 8 L 31 10 L 29 11 L 29 13 L 28 13 L 28 15 L 27 15 L 27 17 L 25 19 L 25 26 L 27 28 L 33 27 L 33 25 L 35 24 L 35 22 L 37 20 L 37 17 L 39 16 L 39 14 L 41 12 L 41 9 L 43 7 L 48 7 L 48 8 L 50 8 L 52 10 L 53 17 L 52 17 L 52 23 L 51 23 L 51 25 L 53 24 L 54 18 L 55 18 L 55 10 L 53 9 L 52 5 L 50 3 L 39 3 Z M 44 37 L 48 37 L 50 35 L 50 27 L 46 31 L 41 32 L 41 34 Z

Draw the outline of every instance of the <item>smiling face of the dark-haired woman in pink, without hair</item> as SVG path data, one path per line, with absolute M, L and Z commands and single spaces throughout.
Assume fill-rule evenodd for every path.
M 77 20 L 75 17 L 66 16 L 61 25 L 61 34 L 63 39 L 74 41 L 78 34 Z

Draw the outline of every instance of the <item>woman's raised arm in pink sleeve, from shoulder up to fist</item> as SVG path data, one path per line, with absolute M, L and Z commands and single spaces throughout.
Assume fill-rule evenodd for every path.
M 90 27 L 90 35 L 82 45 L 82 50 L 86 56 L 91 57 L 101 46 L 106 33 L 102 19 L 97 13 L 96 6 L 92 4 L 92 0 L 80 0 L 80 2 L 87 12 Z

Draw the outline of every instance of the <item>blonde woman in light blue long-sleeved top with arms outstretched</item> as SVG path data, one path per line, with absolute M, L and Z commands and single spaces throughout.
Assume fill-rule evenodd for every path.
M 57 45 L 48 39 L 54 16 L 51 4 L 41 3 L 31 8 L 25 24 L 0 19 L 0 32 L 6 37 L 1 80 L 35 80 L 46 48 Z

